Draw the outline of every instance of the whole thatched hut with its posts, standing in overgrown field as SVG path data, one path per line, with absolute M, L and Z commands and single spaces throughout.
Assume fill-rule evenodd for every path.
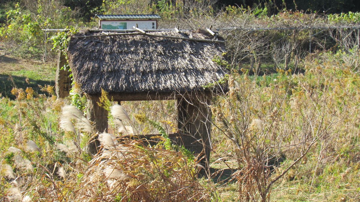
M 209 102 L 209 93 L 228 90 L 226 82 L 219 82 L 228 70 L 214 61 L 224 59 L 224 52 L 223 39 L 205 31 L 85 31 L 71 38 L 67 51 L 74 81 L 82 92 L 93 97 L 92 119 L 100 132 L 107 128 L 107 112 L 96 105 L 101 89 L 116 101 L 181 95 L 177 97 L 178 127 L 181 134 L 192 136 L 186 141 L 183 139 L 183 143 L 186 142 L 190 151 L 205 151 L 207 156 L 208 148 L 199 145 L 197 139 L 210 141 L 211 112 L 205 104 Z M 59 67 L 63 63 L 60 56 Z M 66 80 L 60 78 L 59 71 L 58 77 L 57 81 Z M 66 96 L 67 93 L 59 89 L 62 85 L 57 86 L 58 95 Z M 188 97 L 183 100 L 185 94 Z M 192 100 L 192 94 L 205 96 L 202 101 Z

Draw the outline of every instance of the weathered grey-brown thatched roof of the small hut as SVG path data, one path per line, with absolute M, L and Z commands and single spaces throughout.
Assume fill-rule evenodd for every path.
M 152 34 L 213 39 L 199 31 Z M 146 35 L 91 37 L 95 35 L 104 33 L 79 33 L 68 47 L 73 78 L 90 95 L 98 95 L 101 88 L 110 93 L 203 91 L 203 86 L 228 73 L 212 61 L 215 56 L 222 58 L 224 44 Z

